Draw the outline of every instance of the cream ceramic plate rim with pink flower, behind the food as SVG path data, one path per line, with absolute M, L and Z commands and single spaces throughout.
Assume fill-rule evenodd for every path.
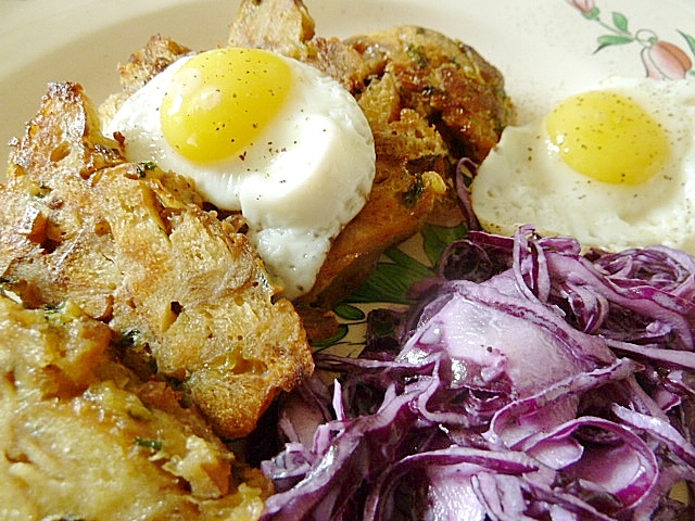
M 24 122 L 38 109 L 47 81 L 81 82 L 101 102 L 118 88 L 115 64 L 149 36 L 161 33 L 194 49 L 213 47 L 226 39 L 238 3 L 0 0 L 0 162 L 7 161 L 4 143 L 22 132 Z M 692 0 L 305 3 L 323 36 L 417 24 L 472 45 L 505 74 L 521 122 L 609 74 L 643 76 L 641 50 L 650 45 L 649 38 L 670 41 L 695 61 L 683 36 L 695 35 Z M 595 52 L 598 38 L 607 36 L 614 38 L 614 45 Z

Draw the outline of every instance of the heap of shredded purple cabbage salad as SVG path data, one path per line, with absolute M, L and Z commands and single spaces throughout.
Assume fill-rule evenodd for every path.
M 695 259 L 471 231 L 285 396 L 265 520 L 695 519 Z

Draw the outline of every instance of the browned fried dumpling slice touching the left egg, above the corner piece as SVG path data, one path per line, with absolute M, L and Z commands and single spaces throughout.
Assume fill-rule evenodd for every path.
M 0 277 L 30 307 L 77 303 L 217 434 L 250 433 L 313 371 L 305 331 L 233 221 L 187 179 L 131 164 L 75 84 L 53 84 L 0 191 Z

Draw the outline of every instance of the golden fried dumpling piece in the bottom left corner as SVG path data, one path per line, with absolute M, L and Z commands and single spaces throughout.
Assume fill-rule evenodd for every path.
M 0 294 L 0 519 L 258 519 L 270 484 L 74 303 Z

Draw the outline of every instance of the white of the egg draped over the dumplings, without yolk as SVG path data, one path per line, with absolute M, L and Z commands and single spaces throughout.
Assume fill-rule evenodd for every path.
M 331 240 L 364 206 L 375 176 L 374 137 L 355 99 L 338 81 L 299 61 L 289 101 L 243 153 L 212 164 L 181 156 L 165 139 L 162 100 L 169 65 L 135 92 L 105 126 L 124 137 L 132 162 L 153 161 L 188 176 L 205 200 L 239 211 L 249 239 L 289 298 L 314 285 Z

